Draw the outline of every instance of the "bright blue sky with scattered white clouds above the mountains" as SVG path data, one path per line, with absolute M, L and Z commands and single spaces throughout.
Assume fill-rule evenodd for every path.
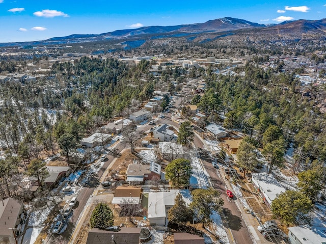
M 0 0 L 0 42 L 100 34 L 150 25 L 199 23 L 222 17 L 258 23 L 316 20 L 326 18 L 326 0 Z

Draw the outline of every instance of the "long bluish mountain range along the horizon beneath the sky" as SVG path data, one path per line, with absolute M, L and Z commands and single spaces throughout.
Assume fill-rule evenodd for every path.
M 144 42 L 148 39 L 159 39 L 167 37 L 184 37 L 202 34 L 219 34 L 225 36 L 236 34 L 238 31 L 255 31 L 264 34 L 280 33 L 316 33 L 323 34 L 326 31 L 326 19 L 321 20 L 296 20 L 285 21 L 280 24 L 259 24 L 243 19 L 225 17 L 209 20 L 205 23 L 181 24 L 173 26 L 144 26 L 138 29 L 117 30 L 102 34 L 73 34 L 65 37 L 54 37 L 44 41 L 24 42 L 24 43 L 0 43 L 0 46 L 16 46 L 16 45 L 57 45 L 66 43 L 82 43 L 107 40 L 121 40 L 121 43 L 128 40 L 142 39 Z M 195 38 L 193 38 L 195 39 Z

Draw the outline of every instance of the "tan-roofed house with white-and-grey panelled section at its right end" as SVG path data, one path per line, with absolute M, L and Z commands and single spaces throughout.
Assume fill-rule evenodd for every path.
M 155 162 L 150 165 L 130 164 L 126 172 L 126 182 L 144 183 L 145 180 L 160 179 L 161 166 Z

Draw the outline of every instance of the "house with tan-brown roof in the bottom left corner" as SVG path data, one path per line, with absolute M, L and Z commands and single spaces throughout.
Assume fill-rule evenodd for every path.
M 0 243 L 16 243 L 15 237 L 23 232 L 20 225 L 25 221 L 22 207 L 22 201 L 14 198 L 6 198 L 0 202 Z

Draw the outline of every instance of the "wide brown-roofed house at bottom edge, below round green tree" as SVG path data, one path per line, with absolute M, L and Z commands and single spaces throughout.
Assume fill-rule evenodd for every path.
M 121 227 L 112 230 L 92 228 L 88 232 L 86 244 L 139 244 L 141 228 Z

